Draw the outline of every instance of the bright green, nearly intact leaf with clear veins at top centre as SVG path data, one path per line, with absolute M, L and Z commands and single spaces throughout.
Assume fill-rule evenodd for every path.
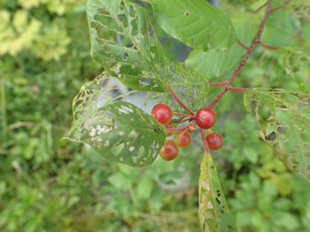
M 229 18 L 205 0 L 149 0 L 164 31 L 195 49 L 228 49 L 236 41 Z

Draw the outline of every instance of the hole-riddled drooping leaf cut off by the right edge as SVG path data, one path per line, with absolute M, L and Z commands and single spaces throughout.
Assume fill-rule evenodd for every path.
M 244 102 L 255 108 L 260 138 L 310 182 L 310 94 L 254 88 L 244 94 Z

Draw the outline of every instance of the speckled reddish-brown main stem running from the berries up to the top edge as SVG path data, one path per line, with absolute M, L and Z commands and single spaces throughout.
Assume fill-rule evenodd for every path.
M 254 41 L 252 41 L 252 45 L 250 46 L 250 48 L 246 52 L 246 54 L 245 54 L 243 60 L 241 61 L 241 63 L 236 67 L 236 71 L 234 71 L 234 73 L 228 79 L 228 83 L 226 84 L 226 86 L 221 90 L 220 94 L 218 94 L 215 97 L 215 99 L 209 104 L 208 108 L 212 109 L 216 105 L 216 103 L 218 101 L 220 101 L 221 97 L 229 90 L 229 87 L 231 86 L 231 84 L 236 79 L 236 76 L 240 73 L 241 69 L 244 67 L 244 64 L 246 63 L 246 61 L 248 60 L 248 58 L 252 54 L 253 49 L 255 49 L 256 45 L 260 42 L 260 36 L 261 36 L 261 34 L 263 32 L 263 28 L 264 28 L 264 26 L 266 24 L 266 20 L 267 20 L 267 17 L 269 15 L 269 12 L 270 12 L 270 9 L 271 9 L 272 1 L 273 0 L 268 0 L 268 2 L 267 2 L 266 12 L 264 14 L 263 19 L 261 20 L 259 32 L 257 33 Z

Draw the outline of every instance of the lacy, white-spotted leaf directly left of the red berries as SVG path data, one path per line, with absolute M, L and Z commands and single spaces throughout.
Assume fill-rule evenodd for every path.
M 166 138 L 165 126 L 126 101 L 130 92 L 109 86 L 109 74 L 81 87 L 74 98 L 74 125 L 65 137 L 94 148 L 110 161 L 150 165 Z

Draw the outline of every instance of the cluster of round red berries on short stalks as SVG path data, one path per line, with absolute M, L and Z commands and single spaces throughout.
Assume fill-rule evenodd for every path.
M 173 96 L 176 98 L 174 94 Z M 167 139 L 164 146 L 162 146 L 159 151 L 161 158 L 165 161 L 172 161 L 176 158 L 179 153 L 179 146 L 190 146 L 191 132 L 197 129 L 196 125 L 203 130 L 210 129 L 216 123 L 216 116 L 213 109 L 203 108 L 199 109 L 196 114 L 193 114 L 192 111 L 190 111 L 190 114 L 191 115 L 174 112 L 165 104 L 158 104 L 151 110 L 151 116 L 159 121 L 159 123 L 166 126 L 167 137 L 171 137 L 175 133 L 174 138 Z M 173 116 L 188 116 L 188 118 L 177 123 L 170 123 Z M 187 121 L 190 121 L 187 126 L 183 128 L 176 128 L 178 123 Z M 210 150 L 218 150 L 223 145 L 221 134 L 217 132 L 209 130 L 204 139 Z

